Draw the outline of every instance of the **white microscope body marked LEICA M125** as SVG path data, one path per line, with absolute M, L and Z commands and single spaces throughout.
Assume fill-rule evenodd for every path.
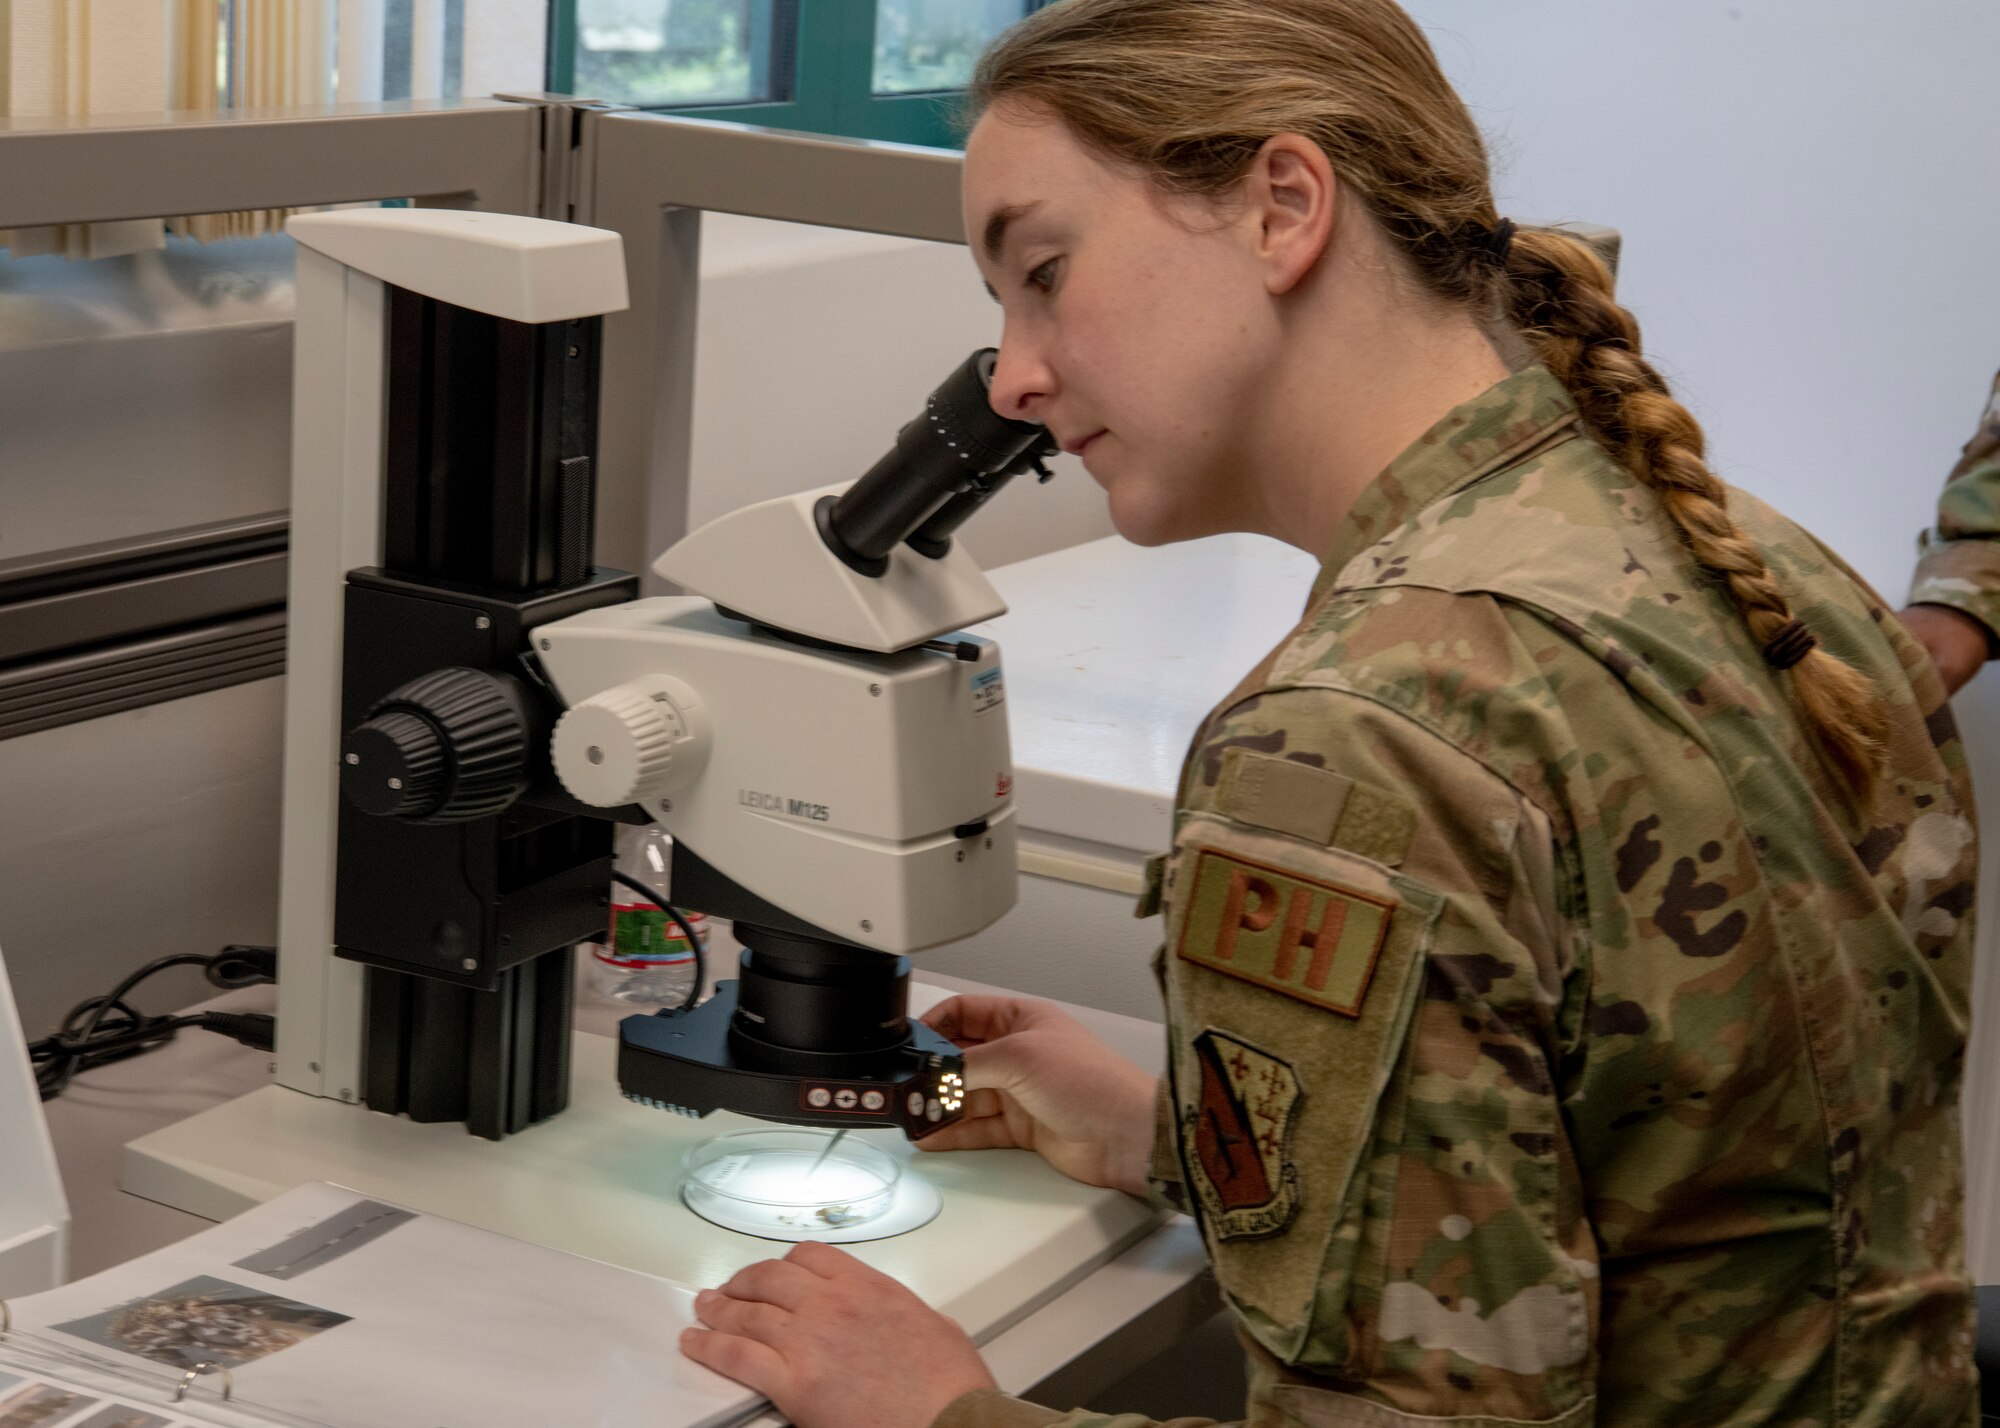
M 570 706 L 660 674 L 700 700 L 708 760 L 648 808 L 662 828 L 792 916 L 896 954 L 970 936 L 1014 906 L 1000 648 L 976 644 L 978 660 L 818 650 L 684 596 L 536 630 Z M 954 832 L 980 820 L 978 834 Z

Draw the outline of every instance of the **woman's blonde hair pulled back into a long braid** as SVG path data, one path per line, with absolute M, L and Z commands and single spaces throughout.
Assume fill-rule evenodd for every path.
M 1798 634 L 1764 552 L 1730 516 L 1700 424 L 1642 356 L 1604 262 L 1546 228 L 1514 234 L 1504 266 L 1494 260 L 1486 144 L 1394 0 L 1062 0 L 982 56 L 968 110 L 1000 100 L 1054 114 L 1164 192 L 1210 200 L 1236 188 L 1268 138 L 1316 142 L 1430 294 L 1528 340 L 1592 436 L 1726 586 L 1750 638 L 1772 650 Z M 1864 802 L 1888 736 L 1874 684 L 1818 648 L 1788 680 L 1808 734 Z

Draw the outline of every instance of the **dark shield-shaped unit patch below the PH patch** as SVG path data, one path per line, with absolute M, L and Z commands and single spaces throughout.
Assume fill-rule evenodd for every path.
M 1202 1084 L 1180 1130 L 1202 1218 L 1218 1240 L 1276 1234 L 1298 1214 L 1298 1170 L 1288 1158 L 1298 1074 L 1216 1030 L 1194 1038 L 1194 1060 Z

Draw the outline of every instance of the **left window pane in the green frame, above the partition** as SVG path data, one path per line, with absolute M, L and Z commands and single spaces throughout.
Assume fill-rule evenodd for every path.
M 772 92 L 774 0 L 576 0 L 576 92 L 616 104 L 746 104 Z

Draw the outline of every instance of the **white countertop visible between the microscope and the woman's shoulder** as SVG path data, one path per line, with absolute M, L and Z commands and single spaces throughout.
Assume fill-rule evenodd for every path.
M 1196 726 L 1298 622 L 1320 564 L 1266 536 L 1116 536 L 990 572 L 1022 832 L 1154 852 Z

